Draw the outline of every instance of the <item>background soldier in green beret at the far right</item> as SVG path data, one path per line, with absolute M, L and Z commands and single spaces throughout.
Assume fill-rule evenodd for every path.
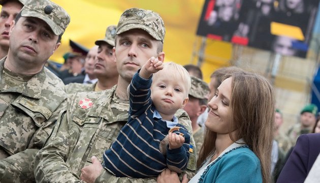
M 300 123 L 292 126 L 287 132 L 287 136 L 293 146 L 296 145 L 296 141 L 301 134 L 311 133 L 315 125 L 317 112 L 318 108 L 314 104 L 308 104 L 303 107 L 300 112 Z

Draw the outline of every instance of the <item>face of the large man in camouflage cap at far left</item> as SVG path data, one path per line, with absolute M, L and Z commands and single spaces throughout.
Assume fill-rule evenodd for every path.
M 13 21 L 10 36 L 10 55 L 29 67 L 42 67 L 60 45 L 49 25 L 34 17 L 21 17 L 15 24 Z

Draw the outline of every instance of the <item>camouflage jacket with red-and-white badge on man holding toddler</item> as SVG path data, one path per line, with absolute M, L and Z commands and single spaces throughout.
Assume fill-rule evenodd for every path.
M 103 162 L 103 153 L 110 148 L 129 117 L 129 101 L 120 102 L 116 86 L 102 92 L 77 93 L 68 99 L 67 109 L 60 113 L 46 145 L 35 158 L 38 182 L 82 182 L 81 168 L 91 164 L 95 156 Z M 86 100 L 85 106 L 83 102 Z M 86 106 L 92 107 L 90 109 Z M 184 110 L 176 113 L 179 123 L 192 132 L 191 121 Z M 193 138 L 191 144 L 195 144 Z M 196 169 L 195 153 L 189 168 Z M 191 155 L 190 155 L 191 157 Z M 195 171 L 189 174 L 193 176 Z M 155 179 L 118 178 L 104 170 L 95 182 L 148 182 Z

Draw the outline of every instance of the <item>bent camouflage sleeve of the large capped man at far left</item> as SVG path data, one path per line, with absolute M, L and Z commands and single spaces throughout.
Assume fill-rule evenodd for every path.
M 34 181 L 34 159 L 39 149 L 52 132 L 59 112 L 65 108 L 63 101 L 53 112 L 49 119 L 43 123 L 31 138 L 28 148 L 8 158 L 0 160 L 0 179 L 4 182 L 28 182 Z

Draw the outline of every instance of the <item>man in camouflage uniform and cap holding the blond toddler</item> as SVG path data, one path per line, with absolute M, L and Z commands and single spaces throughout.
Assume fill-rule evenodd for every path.
M 80 175 L 86 182 L 155 182 L 156 177 L 115 177 L 101 163 L 104 151 L 110 148 L 127 121 L 126 90 L 133 75 L 152 56 L 164 60 L 164 23 L 157 13 L 133 8 L 121 15 L 116 35 L 113 56 L 119 73 L 118 84 L 102 92 L 77 93 L 68 99 L 67 109 L 60 113 L 52 135 L 36 156 L 38 182 L 81 182 Z M 175 115 L 192 132 L 186 112 L 180 109 Z M 190 141 L 195 144 L 192 137 Z M 196 150 L 190 154 L 189 174 L 195 173 L 195 153 Z

